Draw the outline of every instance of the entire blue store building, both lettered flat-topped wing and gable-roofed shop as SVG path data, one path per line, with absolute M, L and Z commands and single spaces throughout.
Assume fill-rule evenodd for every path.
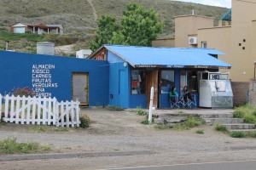
M 198 99 L 200 71 L 230 69 L 207 48 L 103 45 L 89 59 L 0 51 L 0 94 L 29 87 L 40 97 L 79 99 L 82 104 L 170 108 L 169 92 L 188 86 Z M 198 102 L 197 102 L 198 103 Z

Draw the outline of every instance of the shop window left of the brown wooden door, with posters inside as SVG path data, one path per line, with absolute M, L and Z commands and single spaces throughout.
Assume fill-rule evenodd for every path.
M 145 71 L 131 71 L 131 94 L 145 94 Z

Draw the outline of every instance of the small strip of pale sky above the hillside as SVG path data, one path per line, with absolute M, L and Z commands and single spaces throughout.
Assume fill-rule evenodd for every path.
M 201 3 L 218 7 L 231 8 L 231 0 L 177 0 L 189 3 Z

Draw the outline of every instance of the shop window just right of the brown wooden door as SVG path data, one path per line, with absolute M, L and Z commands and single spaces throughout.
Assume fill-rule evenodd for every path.
M 161 94 L 169 94 L 174 86 L 174 71 L 161 71 Z

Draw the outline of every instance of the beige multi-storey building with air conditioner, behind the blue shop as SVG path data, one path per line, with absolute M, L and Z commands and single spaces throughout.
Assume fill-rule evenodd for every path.
M 153 46 L 177 48 L 216 48 L 225 53 L 219 55 L 232 65 L 232 82 L 249 82 L 254 78 L 256 61 L 256 1 L 232 0 L 230 9 L 218 26 L 213 18 L 200 15 L 175 17 L 175 39 L 153 42 Z M 169 44 L 166 44 L 169 42 Z

